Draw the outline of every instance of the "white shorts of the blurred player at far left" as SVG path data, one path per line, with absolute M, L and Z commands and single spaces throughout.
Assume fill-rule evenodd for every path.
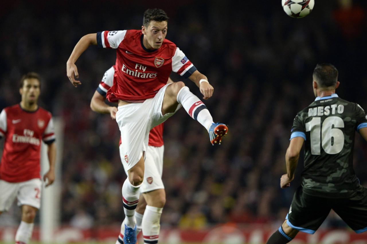
M 18 206 L 29 205 L 39 209 L 41 191 L 42 182 L 38 178 L 16 183 L 0 180 L 0 211 L 8 211 L 15 197 Z

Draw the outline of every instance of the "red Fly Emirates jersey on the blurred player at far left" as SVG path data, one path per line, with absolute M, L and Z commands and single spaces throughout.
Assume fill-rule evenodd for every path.
M 0 114 L 0 137 L 4 137 L 0 179 L 22 182 L 40 178 L 41 140 L 55 141 L 52 115 L 43 108 L 25 111 L 19 104 Z

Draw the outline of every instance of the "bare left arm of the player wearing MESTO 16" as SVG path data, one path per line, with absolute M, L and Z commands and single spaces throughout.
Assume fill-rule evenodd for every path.
M 280 187 L 287 188 L 290 186 L 291 181 L 294 179 L 294 171 L 297 168 L 299 152 L 305 139 L 303 137 L 294 137 L 289 143 L 289 147 L 286 152 L 286 166 L 287 174 L 283 174 L 280 178 Z

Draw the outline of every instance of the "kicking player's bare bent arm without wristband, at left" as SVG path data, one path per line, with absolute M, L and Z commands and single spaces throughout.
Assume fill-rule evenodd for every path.
M 78 69 L 75 65 L 75 62 L 90 45 L 97 45 L 97 33 L 87 34 L 80 38 L 78 43 L 75 45 L 68 62 L 66 62 L 66 75 L 68 76 L 69 81 L 75 87 L 81 85 L 80 81 L 75 80 L 75 77 L 79 78 Z

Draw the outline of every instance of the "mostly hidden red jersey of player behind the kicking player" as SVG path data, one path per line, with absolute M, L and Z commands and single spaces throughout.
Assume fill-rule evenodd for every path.
M 112 66 L 105 72 L 105 74 L 103 75 L 102 81 L 98 85 L 97 92 L 101 94 L 103 97 L 106 96 L 107 91 L 113 85 L 114 74 L 115 74 L 115 66 Z M 121 138 L 120 138 L 119 145 L 120 144 L 121 144 Z M 153 146 L 153 147 L 163 146 L 163 123 L 153 127 L 153 129 L 150 130 L 148 145 Z

